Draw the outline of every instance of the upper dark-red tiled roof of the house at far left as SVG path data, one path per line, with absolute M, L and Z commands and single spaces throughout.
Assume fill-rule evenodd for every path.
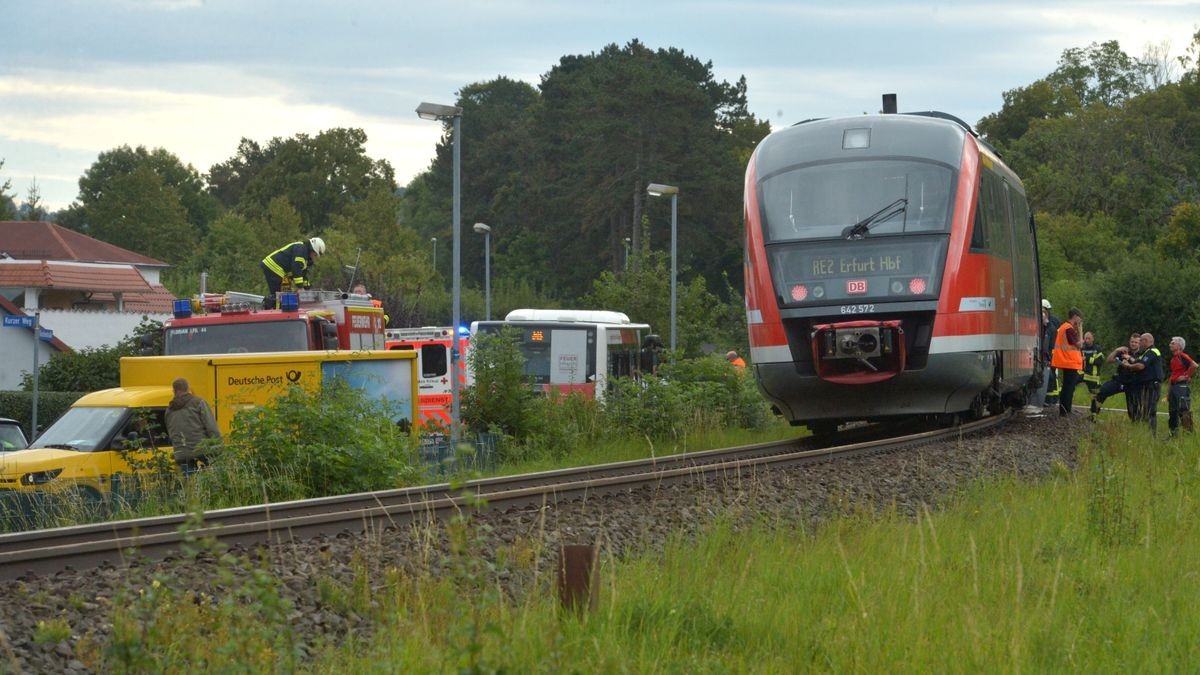
M 0 252 L 19 261 L 77 261 L 169 267 L 46 221 L 0 220 Z

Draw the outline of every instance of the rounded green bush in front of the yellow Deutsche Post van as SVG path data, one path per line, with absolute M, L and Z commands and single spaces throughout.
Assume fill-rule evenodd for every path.
M 311 394 L 292 387 L 274 405 L 238 414 L 203 480 L 240 503 L 397 488 L 414 482 L 412 436 L 382 401 L 341 381 Z

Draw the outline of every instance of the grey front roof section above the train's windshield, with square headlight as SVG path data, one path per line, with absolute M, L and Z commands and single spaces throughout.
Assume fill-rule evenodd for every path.
M 971 127 L 946 113 L 806 120 L 764 138 L 756 169 L 761 180 L 797 165 L 852 157 L 920 157 L 958 167 L 967 135 L 973 136 Z

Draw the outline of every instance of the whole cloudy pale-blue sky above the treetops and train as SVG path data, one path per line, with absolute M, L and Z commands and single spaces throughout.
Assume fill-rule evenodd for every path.
M 1182 54 L 1200 0 L 0 0 L 0 183 L 20 203 L 36 180 L 56 210 L 119 145 L 166 148 L 203 174 L 244 137 L 338 126 L 364 129 L 404 185 L 442 133 L 421 101 L 452 104 L 498 76 L 536 85 L 564 55 L 635 38 L 745 76 L 773 129 L 874 113 L 884 92 L 974 124 L 1063 49 Z

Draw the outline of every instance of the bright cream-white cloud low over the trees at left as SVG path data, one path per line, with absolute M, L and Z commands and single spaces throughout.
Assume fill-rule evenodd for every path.
M 187 83 L 187 89 L 172 83 Z M 202 173 L 233 156 L 242 137 L 264 142 L 361 127 L 367 154 L 391 162 L 403 185 L 428 167 L 442 133 L 439 125 L 416 118 L 415 103 L 394 114 L 365 114 L 335 102 L 314 102 L 277 80 L 218 67 L 125 68 L 88 78 L 44 72 L 0 76 L 0 98 L 12 103 L 0 110 L 0 139 L 6 147 L 41 147 L 43 153 L 76 157 L 95 157 L 119 145 L 161 147 Z M 22 172 L 19 163 L 5 167 L 18 177 L 14 185 L 31 173 Z M 78 166 L 76 175 L 88 166 Z M 59 183 L 43 187 L 53 208 L 72 197 L 62 192 L 71 184 Z

